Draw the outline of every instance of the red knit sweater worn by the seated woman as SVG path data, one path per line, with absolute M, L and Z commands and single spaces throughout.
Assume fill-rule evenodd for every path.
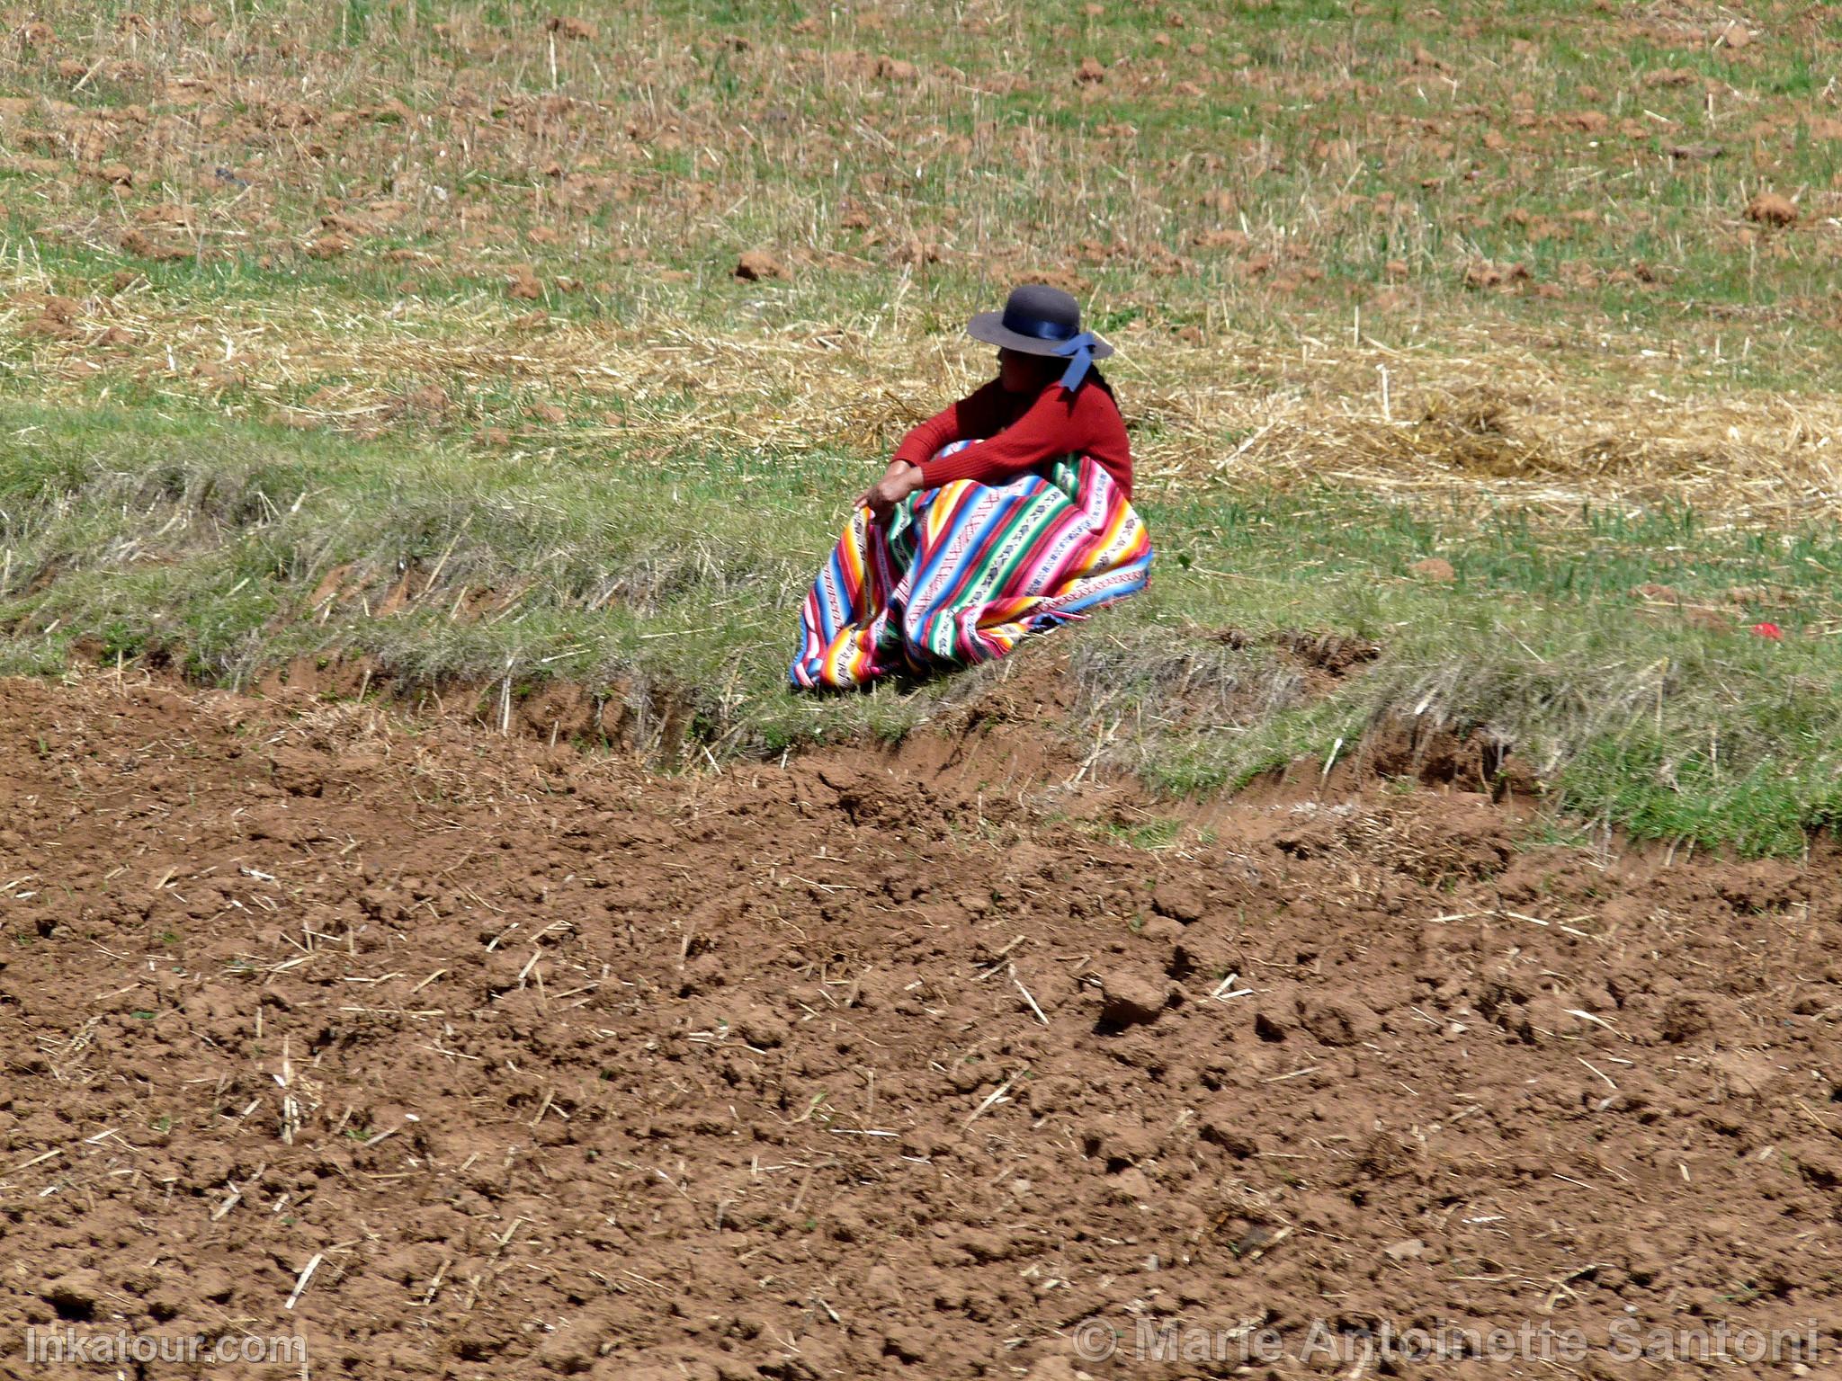
M 941 446 L 976 440 L 963 451 L 930 460 Z M 938 490 L 956 479 L 1002 484 L 1065 455 L 1090 455 L 1133 497 L 1133 451 L 1113 389 L 1100 370 L 1089 372 L 1072 394 L 1061 379 L 1039 394 L 1008 394 L 993 379 L 971 398 L 936 412 L 903 436 L 897 460 L 921 466 L 921 488 Z

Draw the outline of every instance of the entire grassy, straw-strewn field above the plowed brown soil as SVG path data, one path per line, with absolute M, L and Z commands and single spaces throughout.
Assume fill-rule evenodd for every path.
M 1160 552 L 1052 731 L 1201 792 L 1420 711 L 1794 851 L 1842 812 L 1842 20 L 1735 13 L 13 13 L 0 665 L 904 733 L 989 678 L 796 698 L 794 604 L 1044 276 Z M 1293 632 L 1376 656 L 1306 694 Z

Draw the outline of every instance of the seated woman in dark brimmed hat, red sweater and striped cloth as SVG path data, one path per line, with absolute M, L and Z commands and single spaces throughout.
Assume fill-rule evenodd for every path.
M 1144 589 L 1151 540 L 1113 346 L 1054 287 L 1011 293 L 967 324 L 998 377 L 895 447 L 799 613 L 796 687 L 989 661 L 1024 633 Z

